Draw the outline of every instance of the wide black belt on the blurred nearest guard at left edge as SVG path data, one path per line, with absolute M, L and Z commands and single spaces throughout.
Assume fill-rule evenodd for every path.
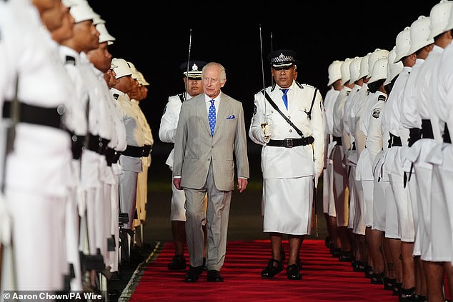
M 19 102 L 19 122 L 49 126 L 56 129 L 65 129 L 61 116 L 64 114 L 64 106 L 41 107 Z M 11 118 L 11 101 L 3 104 L 4 119 Z

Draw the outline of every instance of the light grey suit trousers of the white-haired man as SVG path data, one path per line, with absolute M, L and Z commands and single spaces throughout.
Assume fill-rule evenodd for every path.
M 213 269 L 220 271 L 224 264 L 227 248 L 229 205 L 232 200 L 232 191 L 219 191 L 216 188 L 212 161 L 203 188 L 184 188 L 187 249 L 190 265 L 194 267 L 203 264 L 204 233 L 201 226 L 205 217 L 203 199 L 206 191 L 208 195 L 206 268 L 208 271 Z

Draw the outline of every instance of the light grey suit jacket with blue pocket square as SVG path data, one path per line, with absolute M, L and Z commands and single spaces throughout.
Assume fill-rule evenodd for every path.
M 181 176 L 182 187 L 202 188 L 212 161 L 216 188 L 232 191 L 234 156 L 237 177 L 249 178 L 242 103 L 220 94 L 216 127 L 211 136 L 204 98 L 204 94 L 199 94 L 181 106 L 174 143 L 173 176 Z

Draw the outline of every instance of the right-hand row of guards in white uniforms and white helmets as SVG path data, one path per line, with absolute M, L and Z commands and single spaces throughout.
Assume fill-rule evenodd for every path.
M 327 246 L 399 301 L 453 290 L 452 4 L 328 69 Z

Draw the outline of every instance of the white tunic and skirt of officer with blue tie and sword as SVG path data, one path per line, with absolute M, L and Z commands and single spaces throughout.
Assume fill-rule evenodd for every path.
M 314 143 L 292 148 L 269 146 L 268 144 L 274 140 L 300 139 L 301 136 L 269 104 L 262 91 L 255 94 L 255 111 L 249 136 L 264 145 L 262 148 L 264 232 L 309 234 L 314 193 L 312 181 L 315 178 L 316 182 L 324 167 L 322 96 L 314 87 L 293 81 L 287 92 L 287 109 L 282 101 L 283 94 L 279 86 L 267 87 L 266 92 L 302 131 L 304 137 L 314 138 Z M 310 110 L 311 119 L 307 114 Z M 264 139 L 261 126 L 264 121 L 272 126 L 269 142 Z

